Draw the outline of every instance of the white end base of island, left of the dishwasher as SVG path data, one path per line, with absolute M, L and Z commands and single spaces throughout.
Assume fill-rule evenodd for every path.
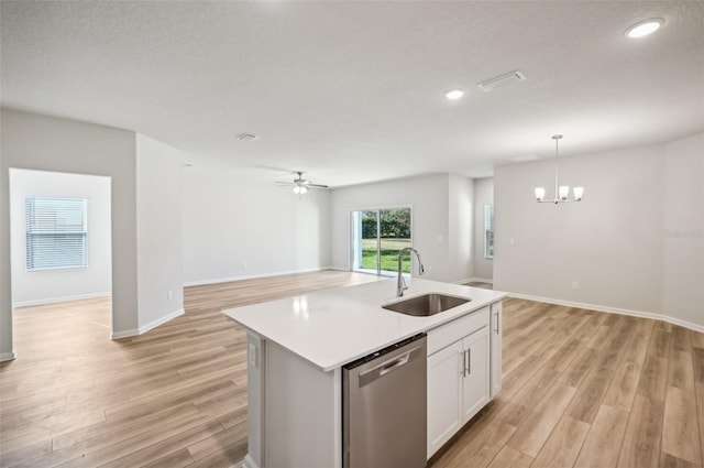
M 244 467 L 342 467 L 341 368 L 323 372 L 254 333 L 248 341 L 250 426 Z

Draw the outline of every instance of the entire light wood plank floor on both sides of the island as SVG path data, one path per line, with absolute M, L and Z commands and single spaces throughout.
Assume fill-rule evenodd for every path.
M 371 280 L 189 287 L 184 316 L 120 341 L 105 300 L 15 311 L 0 466 L 239 466 L 245 335 L 220 309 Z M 703 334 L 519 300 L 504 313 L 504 389 L 429 466 L 702 467 Z

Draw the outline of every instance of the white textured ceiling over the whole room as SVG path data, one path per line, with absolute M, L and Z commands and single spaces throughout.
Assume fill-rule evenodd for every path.
M 491 175 L 704 130 L 704 2 L 1 3 L 1 102 L 119 127 L 195 170 L 346 185 Z M 624 30 L 661 17 L 641 40 Z M 483 92 L 514 69 L 528 77 Z M 443 91 L 462 88 L 448 101 Z M 238 141 L 239 133 L 258 135 Z

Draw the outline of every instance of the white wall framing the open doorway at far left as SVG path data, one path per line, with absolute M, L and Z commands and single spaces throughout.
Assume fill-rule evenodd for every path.
M 11 109 L 0 115 L 0 359 L 11 359 L 9 168 L 112 179 L 112 329 L 138 327 L 136 177 L 133 132 Z

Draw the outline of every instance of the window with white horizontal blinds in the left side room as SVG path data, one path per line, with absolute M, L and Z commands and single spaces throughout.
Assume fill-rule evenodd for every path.
M 82 198 L 24 199 L 26 269 L 86 266 L 86 208 Z

